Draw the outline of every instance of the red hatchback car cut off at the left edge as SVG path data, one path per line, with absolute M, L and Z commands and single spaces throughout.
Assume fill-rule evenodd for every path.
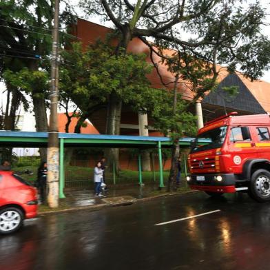
M 0 233 L 17 231 L 37 216 L 37 189 L 10 171 L 0 171 Z

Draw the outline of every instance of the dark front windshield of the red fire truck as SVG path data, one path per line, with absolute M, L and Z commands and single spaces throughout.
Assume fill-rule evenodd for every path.
M 225 141 L 226 133 L 227 126 L 223 126 L 208 130 L 207 132 L 198 135 L 194 143 L 191 144 L 191 153 L 220 148 Z M 208 139 L 209 143 L 201 145 L 200 138 Z

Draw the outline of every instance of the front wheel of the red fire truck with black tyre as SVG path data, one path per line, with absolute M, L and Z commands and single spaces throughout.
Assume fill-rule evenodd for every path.
M 258 169 L 253 172 L 250 182 L 250 196 L 260 203 L 270 200 L 270 172 Z

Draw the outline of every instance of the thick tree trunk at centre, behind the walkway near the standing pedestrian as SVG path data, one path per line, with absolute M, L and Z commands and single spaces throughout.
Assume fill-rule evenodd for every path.
M 110 101 L 108 104 L 108 114 L 107 114 L 107 134 L 109 135 L 119 135 L 120 134 L 120 123 L 121 123 L 121 111 L 122 111 L 122 101 L 115 93 L 110 96 Z M 113 163 L 116 168 L 116 174 L 118 174 L 119 168 L 119 149 L 110 148 L 106 149 L 105 155 L 107 157 L 107 164 L 112 171 Z

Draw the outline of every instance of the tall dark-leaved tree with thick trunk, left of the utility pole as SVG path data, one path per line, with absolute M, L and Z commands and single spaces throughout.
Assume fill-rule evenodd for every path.
M 41 67 L 41 59 L 50 56 L 52 48 L 53 0 L 3 0 L 0 3 L 0 54 L 2 68 L 0 72 L 11 70 L 20 72 L 25 67 L 30 72 L 37 72 Z M 70 21 L 70 6 L 65 5 L 61 14 L 61 22 Z M 61 36 L 63 42 L 63 34 Z M 7 85 L 9 86 L 9 85 Z M 15 94 L 19 91 L 13 85 Z M 11 90 L 8 87 L 8 93 Z M 19 96 L 12 95 L 17 104 Z M 22 93 L 21 93 L 22 94 Z M 32 85 L 28 94 L 32 97 L 33 110 L 36 117 L 37 131 L 48 130 L 45 93 L 40 87 Z M 46 150 L 41 150 L 41 158 L 45 159 Z

